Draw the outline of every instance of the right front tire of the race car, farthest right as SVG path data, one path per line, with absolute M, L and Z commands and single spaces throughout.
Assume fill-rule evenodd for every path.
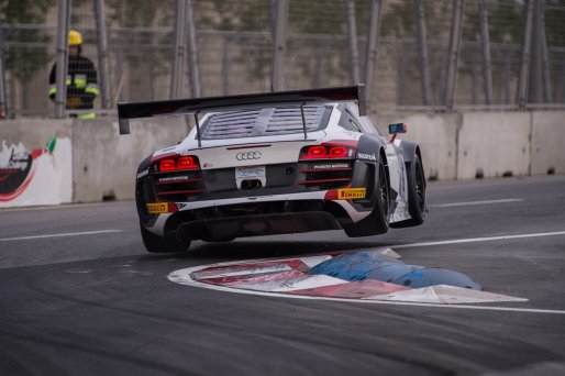
M 407 166 L 408 211 L 410 219 L 391 223 L 391 228 L 411 228 L 422 224 L 425 219 L 425 176 L 422 162 L 418 155 Z

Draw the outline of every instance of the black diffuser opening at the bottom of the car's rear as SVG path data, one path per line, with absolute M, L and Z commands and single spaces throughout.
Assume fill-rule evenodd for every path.
M 184 222 L 177 236 L 189 240 L 221 241 L 233 237 L 341 230 L 336 219 L 325 211 L 239 215 Z

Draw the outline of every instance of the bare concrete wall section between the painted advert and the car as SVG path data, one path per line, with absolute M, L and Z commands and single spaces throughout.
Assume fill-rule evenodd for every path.
M 184 117 L 132 121 L 129 135 L 119 135 L 117 119 L 74 121 L 74 202 L 132 199 L 137 165 L 188 130 Z

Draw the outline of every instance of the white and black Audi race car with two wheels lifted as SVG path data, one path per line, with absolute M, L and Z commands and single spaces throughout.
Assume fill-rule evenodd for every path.
M 343 229 L 348 236 L 423 223 L 419 145 L 365 115 L 364 86 L 119 103 L 130 119 L 195 117 L 178 145 L 137 169 L 135 199 L 149 252 L 266 234 Z

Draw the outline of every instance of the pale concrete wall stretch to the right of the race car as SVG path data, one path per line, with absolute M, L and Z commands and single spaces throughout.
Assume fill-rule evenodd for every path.
M 420 144 L 426 177 L 439 180 L 565 173 L 565 111 L 387 113 L 400 139 Z

